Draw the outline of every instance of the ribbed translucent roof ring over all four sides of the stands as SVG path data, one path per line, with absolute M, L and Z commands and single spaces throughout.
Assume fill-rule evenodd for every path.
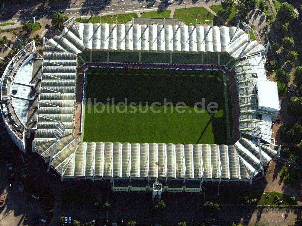
M 238 59 L 263 53 L 265 48 L 256 41 L 249 42 L 247 34 L 240 28 L 73 23 L 63 30 L 62 36 L 54 36 L 46 42 L 43 39 L 43 42 L 34 146 L 35 151 L 49 161 L 56 124 L 61 121 L 66 126 L 51 162 L 52 168 L 62 178 L 159 177 L 251 182 L 262 171 L 258 146 L 245 138 L 234 145 L 207 145 L 85 143 L 73 136 L 77 67 L 82 51 L 227 52 Z M 254 119 L 259 111 L 263 115 L 273 115 L 258 109 L 257 79 L 253 74 L 256 72 L 258 79 L 266 80 L 261 60 L 262 56 L 253 57 L 235 67 L 240 98 L 240 131 L 250 133 L 255 125 L 260 124 L 265 139 L 270 140 L 270 118 L 267 121 Z M 267 146 L 261 146 L 261 149 L 266 165 L 277 152 Z

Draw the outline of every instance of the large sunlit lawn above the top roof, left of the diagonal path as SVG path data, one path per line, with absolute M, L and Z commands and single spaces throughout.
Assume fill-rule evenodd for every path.
M 194 25 L 196 19 L 198 24 L 211 24 L 213 19 L 214 25 L 223 24 L 220 20 L 217 19 L 217 17 L 214 17 L 214 15 L 207 11 L 207 9 L 204 7 L 176 9 L 173 18 L 182 19 L 182 22 L 188 25 Z

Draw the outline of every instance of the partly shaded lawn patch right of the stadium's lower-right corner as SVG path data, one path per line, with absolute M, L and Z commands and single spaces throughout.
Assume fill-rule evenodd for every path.
M 299 171 L 292 167 L 289 167 L 289 169 L 287 169 L 287 167 L 280 162 L 278 163 L 278 165 L 279 165 L 279 176 L 283 181 L 283 183 L 287 187 L 297 188 L 297 184 L 300 183 Z

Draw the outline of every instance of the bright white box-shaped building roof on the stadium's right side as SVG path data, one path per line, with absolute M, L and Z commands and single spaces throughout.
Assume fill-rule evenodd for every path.
M 279 111 L 279 97 L 277 83 L 273 81 L 257 80 L 258 103 L 260 109 L 275 109 Z

